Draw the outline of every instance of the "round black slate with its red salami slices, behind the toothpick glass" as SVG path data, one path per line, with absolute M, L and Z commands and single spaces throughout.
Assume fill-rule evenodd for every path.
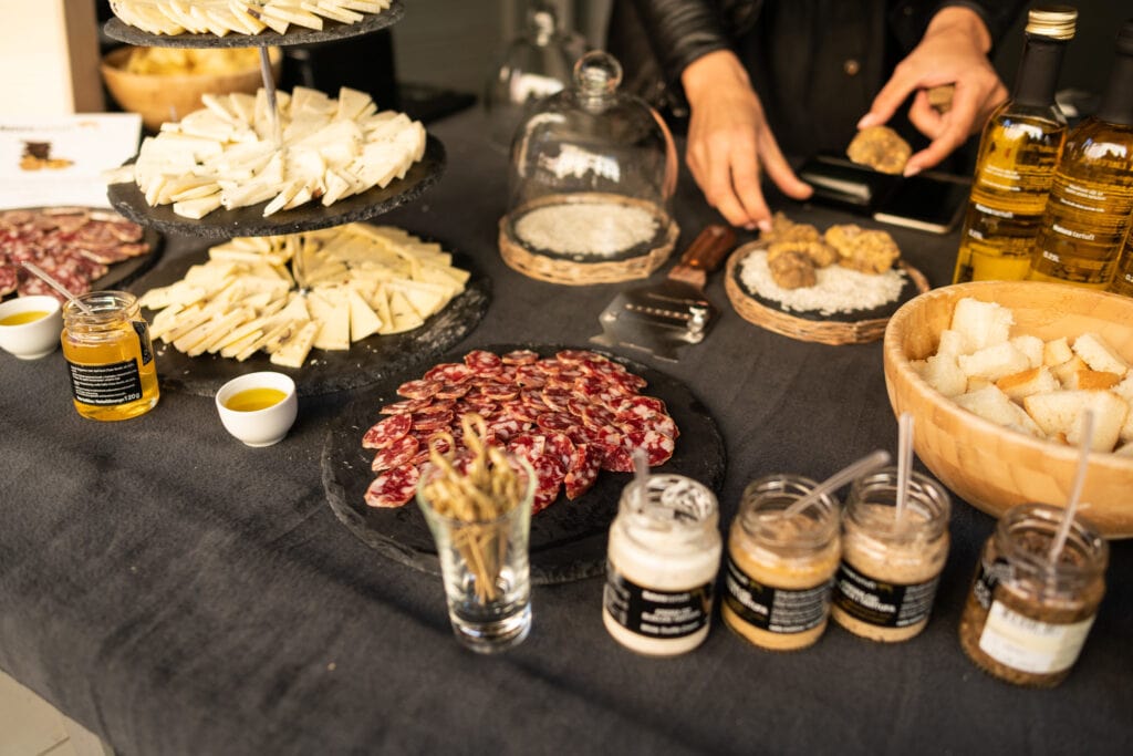
M 640 447 L 654 472 L 710 487 L 723 482 L 723 441 L 684 384 L 600 351 L 497 345 L 391 376 L 347 407 L 332 424 L 322 460 L 335 516 L 380 553 L 437 574 L 414 486 L 429 436 L 445 431 L 459 444 L 460 417 L 468 411 L 484 417 L 495 442 L 525 456 L 539 475 L 530 535 L 538 584 L 602 574 L 607 530 L 633 477 L 630 449 Z

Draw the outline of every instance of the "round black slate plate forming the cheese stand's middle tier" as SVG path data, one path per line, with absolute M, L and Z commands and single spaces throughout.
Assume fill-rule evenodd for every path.
M 444 172 L 444 145 L 429 135 L 424 158 L 414 163 L 403 179 L 395 179 L 385 188 L 375 186 L 361 194 L 340 199 L 329 207 L 317 202 L 308 202 L 295 210 L 281 210 L 266 218 L 264 207 L 267 206 L 267 202 L 236 210 L 220 207 L 199 220 L 182 218 L 173 212 L 172 205 L 150 206 L 145 195 L 133 181 L 111 184 L 108 196 L 114 209 L 126 218 L 165 233 L 206 239 L 298 233 L 365 221 L 387 213 L 398 205 L 416 199 L 433 186 Z

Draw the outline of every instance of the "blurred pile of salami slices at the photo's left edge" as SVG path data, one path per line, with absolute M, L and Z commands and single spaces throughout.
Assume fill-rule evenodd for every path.
M 20 263 L 34 263 L 71 294 L 86 294 L 107 266 L 150 252 L 137 223 L 110 211 L 82 207 L 0 212 L 0 297 L 62 295 L 32 275 Z

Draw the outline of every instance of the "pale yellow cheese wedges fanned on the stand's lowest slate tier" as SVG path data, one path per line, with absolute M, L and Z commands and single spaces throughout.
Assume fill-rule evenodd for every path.
M 273 364 L 298 368 L 312 348 L 349 349 L 375 333 L 424 325 L 468 278 L 437 244 L 390 226 L 349 223 L 231 239 L 140 304 L 160 311 L 153 338 L 178 351 L 241 362 L 265 351 Z

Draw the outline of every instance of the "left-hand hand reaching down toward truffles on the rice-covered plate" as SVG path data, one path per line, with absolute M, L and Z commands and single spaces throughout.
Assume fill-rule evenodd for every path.
M 770 229 L 760 170 L 787 196 L 806 199 L 810 185 L 786 162 L 747 71 L 731 52 L 698 58 L 681 75 L 691 108 L 685 162 L 708 204 L 732 226 Z

